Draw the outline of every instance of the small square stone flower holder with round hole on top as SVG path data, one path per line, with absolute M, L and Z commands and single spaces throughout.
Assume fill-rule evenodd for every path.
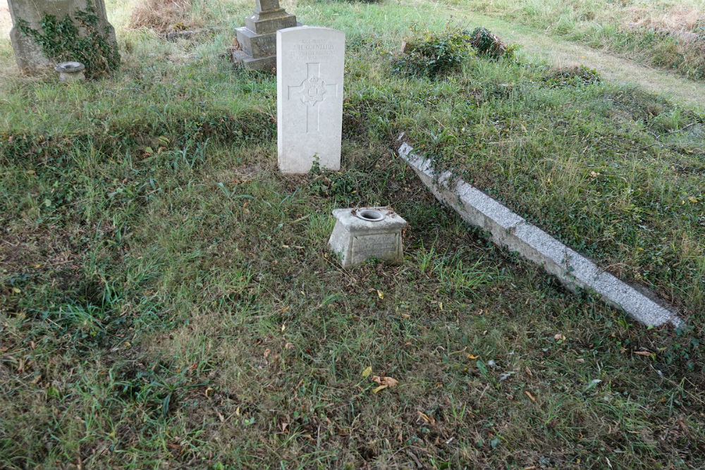
M 407 222 L 388 207 L 336 209 L 336 226 L 328 242 L 341 256 L 343 268 L 360 266 L 369 259 L 389 264 L 403 262 L 402 230 Z

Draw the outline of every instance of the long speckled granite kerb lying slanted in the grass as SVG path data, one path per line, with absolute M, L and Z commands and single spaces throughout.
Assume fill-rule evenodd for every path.
M 402 133 L 397 140 L 399 156 L 434 193 L 436 199 L 452 207 L 466 222 L 489 232 L 496 245 L 539 264 L 570 290 L 580 288 L 596 292 L 603 302 L 622 309 L 645 325 L 682 325 L 675 309 L 668 307 L 665 302 L 615 278 L 476 187 L 453 178 L 450 171 L 435 173 L 431 161 L 414 154 L 404 135 Z

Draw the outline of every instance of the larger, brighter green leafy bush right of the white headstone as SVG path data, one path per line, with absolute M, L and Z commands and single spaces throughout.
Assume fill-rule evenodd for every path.
M 437 75 L 458 70 L 474 53 L 470 48 L 470 33 L 458 27 L 446 27 L 441 32 L 419 31 L 407 39 L 393 71 L 407 75 Z

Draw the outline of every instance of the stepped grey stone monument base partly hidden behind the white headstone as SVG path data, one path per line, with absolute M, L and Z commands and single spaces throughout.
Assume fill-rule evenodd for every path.
M 245 18 L 245 26 L 235 30 L 240 50 L 233 50 L 233 61 L 245 68 L 274 70 L 277 30 L 301 23 L 279 6 L 279 0 L 256 2 L 255 13 Z

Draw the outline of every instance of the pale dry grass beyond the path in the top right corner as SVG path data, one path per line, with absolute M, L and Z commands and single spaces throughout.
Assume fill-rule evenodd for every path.
M 658 68 L 705 80 L 703 0 L 454 0 Z

